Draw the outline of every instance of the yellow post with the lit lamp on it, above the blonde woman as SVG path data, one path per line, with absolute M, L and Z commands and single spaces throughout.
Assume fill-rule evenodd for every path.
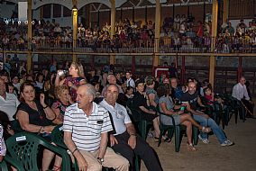
M 78 61 L 77 54 L 74 52 L 74 49 L 77 47 L 78 41 L 78 0 L 73 0 L 73 8 L 72 8 L 72 17 L 73 17 L 73 54 L 72 59 L 73 62 Z

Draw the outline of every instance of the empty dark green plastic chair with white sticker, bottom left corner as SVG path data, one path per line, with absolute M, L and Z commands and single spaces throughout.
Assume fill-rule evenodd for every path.
M 6 160 L 12 160 L 18 171 L 35 171 L 38 168 L 38 153 L 40 147 L 48 148 L 62 157 L 61 170 L 70 170 L 70 159 L 66 150 L 50 144 L 38 135 L 29 132 L 14 134 L 6 140 Z M 7 161 L 9 162 L 9 161 Z

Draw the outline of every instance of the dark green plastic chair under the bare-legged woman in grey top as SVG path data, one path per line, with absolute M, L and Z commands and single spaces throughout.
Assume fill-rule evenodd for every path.
M 160 139 L 159 139 L 159 143 L 158 143 L 158 147 L 160 147 L 160 143 L 161 143 L 161 139 L 162 139 L 162 135 L 168 130 L 169 131 L 169 138 L 171 139 L 173 137 L 174 134 L 174 138 L 175 138 L 175 151 L 179 152 L 179 148 L 180 148 L 180 144 L 181 144 L 181 140 L 182 140 L 182 134 L 181 134 L 181 130 L 186 130 L 186 126 L 184 125 L 176 125 L 173 116 L 166 114 L 164 112 L 160 112 L 160 107 L 157 107 L 157 112 L 160 113 L 160 115 L 166 115 L 168 117 L 171 118 L 173 125 L 165 125 L 162 124 L 160 121 Z M 193 126 L 193 141 L 194 144 L 197 145 L 198 142 L 198 128 Z

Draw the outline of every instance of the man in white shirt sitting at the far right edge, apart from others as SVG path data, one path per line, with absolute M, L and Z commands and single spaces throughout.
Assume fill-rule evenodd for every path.
M 245 108 L 245 111 L 247 111 L 247 117 L 252 117 L 253 103 L 248 94 L 245 83 L 246 83 L 246 79 L 244 76 L 242 76 L 239 80 L 239 83 L 233 86 L 232 96 L 237 100 L 241 101 L 241 103 L 243 104 L 243 107 L 245 106 L 244 108 Z

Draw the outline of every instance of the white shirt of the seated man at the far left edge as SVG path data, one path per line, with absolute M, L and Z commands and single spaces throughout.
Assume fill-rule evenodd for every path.
M 6 112 L 9 121 L 14 121 L 14 114 L 19 104 L 20 101 L 14 94 L 6 93 L 6 98 L 0 95 L 0 111 Z

